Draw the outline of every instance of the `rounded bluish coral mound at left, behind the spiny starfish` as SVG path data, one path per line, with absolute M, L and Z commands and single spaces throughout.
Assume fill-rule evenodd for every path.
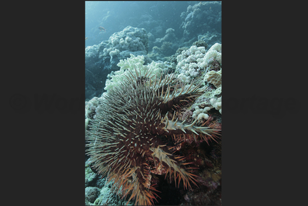
M 108 41 L 98 45 L 88 46 L 85 49 L 85 80 L 86 99 L 100 96 L 104 91 L 107 75 L 119 70 L 117 63 L 121 59 L 144 55 L 145 63 L 152 60 L 148 58 L 148 35 L 145 29 L 126 27 L 116 32 Z

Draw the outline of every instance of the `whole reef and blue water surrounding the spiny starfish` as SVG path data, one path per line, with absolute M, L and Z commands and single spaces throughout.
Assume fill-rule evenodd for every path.
M 187 122 L 208 120 L 221 128 L 221 7 L 221 2 L 200 1 L 85 2 L 86 134 L 104 96 L 135 66 L 157 75 L 174 73 L 183 84 L 199 85 L 204 94 L 181 105 L 179 113 Z M 198 165 L 198 187 L 185 190 L 164 179 L 165 173 L 153 172 L 161 192 L 154 204 L 221 205 L 221 142 L 189 142 L 185 148 L 183 142 L 176 144 Z M 113 183 L 91 168 L 88 154 L 85 159 L 85 204 L 126 204 L 129 198 L 114 193 Z

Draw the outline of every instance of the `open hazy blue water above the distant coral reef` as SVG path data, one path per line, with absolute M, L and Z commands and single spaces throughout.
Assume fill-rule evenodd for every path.
M 181 13 L 198 1 L 185 2 L 85 2 L 85 46 L 108 40 L 127 26 L 144 28 L 161 38 L 168 28 L 181 37 Z M 190 14 L 189 16 L 191 16 Z M 98 28 L 104 27 L 106 32 Z M 155 36 L 156 35 L 156 36 Z

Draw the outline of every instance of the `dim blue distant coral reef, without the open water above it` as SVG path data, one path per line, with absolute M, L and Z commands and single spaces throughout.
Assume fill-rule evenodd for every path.
M 170 5 L 172 3 L 166 2 L 164 4 Z M 136 24 L 139 28 L 119 26 L 123 30 L 112 34 L 108 40 L 86 47 L 85 98 L 89 100 L 93 97 L 101 96 L 105 91 L 104 86 L 107 75 L 112 71 L 119 70 L 117 63 L 119 63 L 121 59 L 129 58 L 130 54 L 144 56 L 145 64 L 151 63 L 152 60 L 164 62 L 170 61 L 170 59 L 171 63 L 178 63 L 178 61 L 175 60 L 176 57 L 170 57 L 178 48 L 184 46 L 190 47 L 196 40 L 205 41 L 209 47 L 216 42 L 220 43 L 221 3 L 201 2 L 188 7 L 187 4 L 189 3 L 180 4 L 181 8 L 187 8 L 187 11 L 181 14 L 181 18 L 183 18 L 181 26 L 183 33 L 181 29 L 172 28 L 170 27 L 171 25 L 167 27 L 167 25 L 164 25 L 165 21 L 160 22 L 154 19 L 154 14 L 144 14 L 141 15 L 144 21 L 139 19 L 140 23 Z M 159 4 L 157 4 L 157 6 L 158 5 Z M 184 7 L 184 5 L 186 6 Z M 157 9 L 156 6 L 153 8 Z M 175 11 L 175 13 L 179 12 L 180 11 Z M 179 15 L 177 17 L 179 18 Z M 106 14 L 104 18 L 110 18 L 110 14 Z M 120 21 L 119 25 L 123 25 L 123 22 Z M 96 30 L 98 29 L 96 28 Z M 107 29 L 107 32 L 109 31 L 110 30 Z M 184 35 L 184 39 L 182 35 Z M 89 39 L 91 39 L 91 37 L 89 37 Z M 89 42 L 89 39 L 87 42 Z M 196 46 L 197 48 L 204 47 L 206 50 L 205 44 L 198 43 Z M 150 52 L 148 53 L 148 51 Z M 174 69 L 175 67 L 173 67 L 173 70 Z M 190 70 L 188 72 L 189 75 L 182 74 L 182 80 L 186 82 L 189 82 L 198 75 L 202 75 L 200 71 L 197 71 L 198 68 L 196 66 L 192 65 L 188 70 Z

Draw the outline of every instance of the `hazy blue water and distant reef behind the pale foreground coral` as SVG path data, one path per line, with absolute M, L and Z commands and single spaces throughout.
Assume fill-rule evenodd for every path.
M 137 28 L 133 33 L 143 30 L 146 36 L 133 38 L 146 41 L 145 49 L 116 47 L 116 41 L 127 37 L 128 31 L 122 32 L 127 27 Z M 221 43 L 221 36 L 221 2 L 85 2 L 85 99 L 102 95 L 107 75 L 119 70 L 116 64 L 129 58 L 129 53 L 144 55 L 146 63 L 165 61 L 198 40 L 204 40 L 209 49 Z M 115 50 L 111 48 L 120 53 L 110 55 Z

